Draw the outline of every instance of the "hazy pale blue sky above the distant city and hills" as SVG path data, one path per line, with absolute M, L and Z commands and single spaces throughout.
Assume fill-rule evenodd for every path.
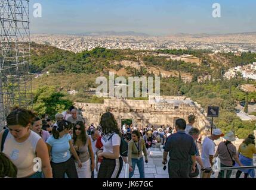
M 33 17 L 33 4 L 42 18 Z M 212 4 L 221 18 L 212 17 Z M 150 35 L 256 31 L 255 0 L 31 0 L 31 33 L 136 31 Z

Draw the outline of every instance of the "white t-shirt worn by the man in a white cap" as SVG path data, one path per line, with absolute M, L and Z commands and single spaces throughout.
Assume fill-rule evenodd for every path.
M 211 163 L 210 163 L 210 160 L 209 160 L 209 155 L 214 156 L 214 154 L 215 154 L 214 141 L 212 141 L 209 137 L 206 137 L 203 140 L 202 154 L 201 154 L 203 167 L 211 167 Z

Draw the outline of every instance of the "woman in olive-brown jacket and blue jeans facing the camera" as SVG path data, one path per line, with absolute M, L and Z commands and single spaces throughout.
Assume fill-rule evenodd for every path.
M 140 178 L 145 178 L 144 173 L 144 160 L 142 152 L 145 156 L 145 163 L 148 162 L 147 159 L 147 148 L 145 141 L 140 137 L 140 132 L 132 131 L 132 140 L 128 144 L 128 162 L 129 162 L 129 178 L 134 175 L 135 165 L 137 164 L 138 171 L 140 173 Z

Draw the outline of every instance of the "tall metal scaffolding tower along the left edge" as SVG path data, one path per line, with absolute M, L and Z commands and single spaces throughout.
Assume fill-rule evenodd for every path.
M 32 103 L 29 0 L 0 0 L 0 129 L 12 107 Z

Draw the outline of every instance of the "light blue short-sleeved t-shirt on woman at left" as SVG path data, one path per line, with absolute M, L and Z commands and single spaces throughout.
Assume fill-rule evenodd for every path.
M 69 151 L 69 141 L 71 140 L 70 134 L 66 134 L 61 138 L 55 139 L 53 135 L 51 135 L 46 143 L 51 146 L 51 157 L 52 162 L 61 163 L 66 162 L 70 159 L 70 151 Z

